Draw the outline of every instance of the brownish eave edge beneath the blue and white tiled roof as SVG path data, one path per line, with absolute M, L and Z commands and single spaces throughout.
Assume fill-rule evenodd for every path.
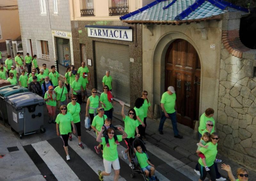
M 144 21 L 144 20 L 122 20 L 124 23 L 128 24 L 172 24 L 172 25 L 179 25 L 183 23 L 192 23 L 192 22 L 200 22 L 200 21 L 209 21 L 209 20 L 220 20 L 221 15 L 211 16 L 207 18 L 201 18 L 201 19 L 189 19 L 189 20 L 172 20 L 172 21 Z

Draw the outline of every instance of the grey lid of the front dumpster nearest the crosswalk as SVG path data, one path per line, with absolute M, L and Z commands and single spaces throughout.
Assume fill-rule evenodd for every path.
M 5 101 L 13 107 L 25 107 L 44 102 L 44 99 L 32 92 L 24 92 L 20 94 L 10 95 L 5 98 Z

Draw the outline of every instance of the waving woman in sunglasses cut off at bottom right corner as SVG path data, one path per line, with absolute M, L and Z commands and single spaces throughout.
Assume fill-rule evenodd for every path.
M 238 179 L 236 179 L 232 173 L 231 167 L 226 164 L 221 164 L 221 169 L 226 170 L 228 172 L 228 177 L 230 181 L 248 181 L 249 172 L 245 168 L 238 168 L 236 170 L 236 176 Z

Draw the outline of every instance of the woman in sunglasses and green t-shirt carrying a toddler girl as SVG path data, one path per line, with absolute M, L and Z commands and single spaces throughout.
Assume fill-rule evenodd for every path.
M 205 156 L 205 162 L 210 169 L 209 171 L 205 170 L 204 164 L 202 162 L 202 158 L 199 158 L 199 171 L 200 171 L 200 179 L 199 181 L 203 181 L 206 178 L 207 172 L 209 173 L 211 180 L 216 180 L 216 172 L 214 167 L 214 161 L 216 159 L 217 145 L 219 141 L 219 134 L 214 132 L 211 134 L 210 141 L 205 145 L 205 147 L 201 147 L 199 150 L 196 150 L 196 154 L 203 153 Z

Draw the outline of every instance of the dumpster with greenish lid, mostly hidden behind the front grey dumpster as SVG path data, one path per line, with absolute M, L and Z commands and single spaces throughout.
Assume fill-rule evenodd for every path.
M 6 102 L 4 101 L 4 97 L 19 94 L 23 92 L 29 92 L 27 88 L 17 86 L 17 85 L 9 85 L 0 87 L 0 117 L 3 118 L 4 124 L 8 122 L 8 115 L 6 109 Z

